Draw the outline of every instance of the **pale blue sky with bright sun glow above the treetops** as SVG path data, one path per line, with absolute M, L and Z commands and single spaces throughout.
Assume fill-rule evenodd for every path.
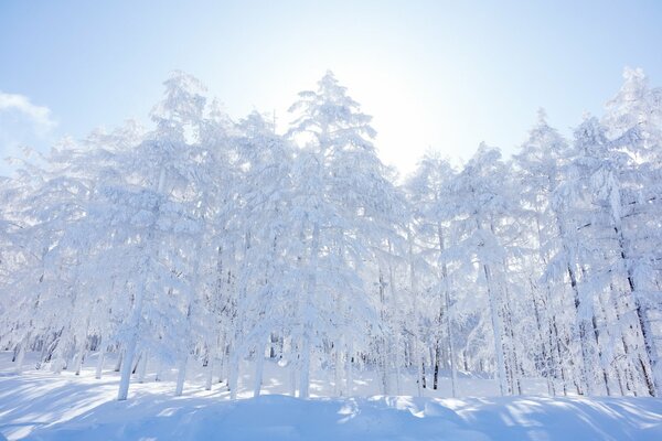
M 567 132 L 624 66 L 662 86 L 662 1 L 0 1 L 0 154 L 147 120 L 173 69 L 235 119 L 286 112 L 327 69 L 403 172 L 426 148 L 515 151 L 536 109 Z M 1 170 L 0 170 L 1 171 Z

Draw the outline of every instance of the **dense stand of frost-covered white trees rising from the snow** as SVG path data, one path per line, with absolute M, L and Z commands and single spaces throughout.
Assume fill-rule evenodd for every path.
M 538 378 L 660 396 L 662 88 L 623 78 L 568 136 L 541 110 L 512 158 L 429 151 L 401 178 L 331 72 L 284 130 L 177 72 L 148 126 L 64 139 L 1 179 L 0 348 L 18 373 L 30 353 L 54 373 L 96 354 L 119 400 L 148 363 L 175 395 L 196 365 L 233 398 L 250 369 L 258 396 L 274 363 L 302 398 L 319 372 L 335 396 L 361 372 L 383 395 L 444 377 L 463 396 L 476 375 L 501 395 Z

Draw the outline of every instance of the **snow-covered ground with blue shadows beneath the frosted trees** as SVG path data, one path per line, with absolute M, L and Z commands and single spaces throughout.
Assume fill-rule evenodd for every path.
M 79 376 L 47 369 L 15 375 L 11 353 L 0 353 L 0 439 L 33 440 L 662 440 L 662 399 L 552 398 L 540 381 L 521 397 L 489 397 L 489 379 L 465 377 L 463 395 L 438 391 L 377 394 L 370 373 L 356 373 L 354 398 L 331 395 L 327 378 L 313 376 L 310 400 L 285 396 L 286 370 L 268 363 L 264 396 L 249 398 L 244 377 L 239 397 L 225 385 L 204 390 L 203 373 L 173 397 L 174 373 L 154 383 L 132 383 L 129 399 L 116 401 L 118 375 L 109 361 L 94 378 L 94 357 Z M 28 363 L 31 367 L 34 364 Z M 246 366 L 245 372 L 252 372 Z M 533 395 L 536 394 L 536 395 Z M 483 398 L 479 398 L 483 396 Z M 485 398 L 488 397 L 488 398 Z

